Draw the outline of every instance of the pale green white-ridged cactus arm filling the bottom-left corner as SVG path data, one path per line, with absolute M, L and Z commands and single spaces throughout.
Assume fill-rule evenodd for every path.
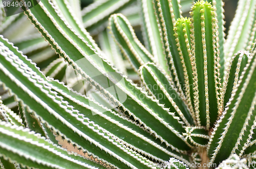
M 0 135 L 3 137 L 0 141 L 0 155 L 8 161 L 18 162 L 23 167 L 103 168 L 93 161 L 69 153 L 29 129 L 4 122 L 0 122 L 0 128 Z

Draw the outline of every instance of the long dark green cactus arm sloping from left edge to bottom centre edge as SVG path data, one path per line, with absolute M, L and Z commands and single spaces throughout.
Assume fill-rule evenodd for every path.
M 94 124 L 90 119 L 73 109 L 73 106 L 68 105 L 68 102 L 63 101 L 61 96 L 51 90 L 49 83 L 39 78 L 18 58 L 10 55 L 11 58 L 15 58 L 14 61 L 8 57 L 10 53 L 8 49 L 4 47 L 4 51 L 1 53 L 1 81 L 5 83 L 10 92 L 17 93 L 17 99 L 22 100 L 30 111 L 35 113 L 34 110 L 36 110 L 34 114 L 36 118 L 40 118 L 40 121 L 46 123 L 54 132 L 61 134 L 67 140 L 71 138 L 70 141 L 77 142 L 81 146 L 79 147 L 81 150 L 84 150 L 82 148 L 87 148 L 98 156 L 104 156 L 104 159 L 118 167 L 128 165 L 130 167 L 145 168 L 145 165 L 148 167 L 153 165 L 151 161 L 124 146 L 118 137 Z M 7 56 L 4 57 L 3 55 Z M 17 66 L 17 70 L 13 69 L 14 67 L 10 65 L 11 63 Z M 81 137 L 84 139 L 81 139 Z M 78 146 L 75 142 L 72 143 Z M 102 154 L 102 150 L 107 154 Z M 105 162 L 98 156 L 94 157 Z

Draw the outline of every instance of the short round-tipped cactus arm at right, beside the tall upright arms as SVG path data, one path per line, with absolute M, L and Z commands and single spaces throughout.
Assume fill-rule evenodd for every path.
M 222 87 L 223 108 L 226 107 L 229 99 L 231 98 L 232 90 L 236 88 L 239 77 L 248 63 L 248 58 L 251 55 L 246 51 L 240 51 L 234 54 L 227 67 L 227 75 Z

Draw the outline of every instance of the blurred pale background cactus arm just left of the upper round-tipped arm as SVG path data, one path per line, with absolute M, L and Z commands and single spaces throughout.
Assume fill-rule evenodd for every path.
M 125 63 L 123 61 L 122 55 L 118 49 L 118 46 L 111 37 L 108 29 L 105 29 L 99 34 L 99 44 L 102 51 L 105 53 L 106 58 L 109 59 L 111 63 L 114 64 L 118 70 L 120 70 L 124 75 L 127 75 Z

